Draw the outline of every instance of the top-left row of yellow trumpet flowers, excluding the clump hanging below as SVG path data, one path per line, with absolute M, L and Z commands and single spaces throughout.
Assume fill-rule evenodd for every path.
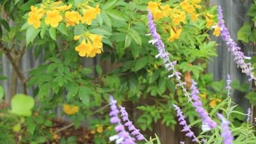
M 92 24 L 92 20 L 96 19 L 97 15 L 100 14 L 99 4 L 93 8 L 86 2 L 81 4 L 81 6 L 77 8 L 77 11 L 70 10 L 71 8 L 72 4 L 67 5 L 62 1 L 47 1 L 42 3 L 40 8 L 31 6 L 28 24 L 38 29 L 40 28 L 41 20 L 44 19 L 45 24 L 50 25 L 53 28 L 57 28 L 62 20 L 66 23 L 67 27 L 76 26 L 79 22 L 90 25 Z M 80 15 L 79 10 L 83 11 L 83 15 Z

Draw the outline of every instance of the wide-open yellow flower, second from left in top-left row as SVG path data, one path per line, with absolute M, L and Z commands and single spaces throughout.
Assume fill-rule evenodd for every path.
M 59 22 L 62 20 L 60 12 L 58 10 L 47 11 L 46 15 L 47 17 L 45 18 L 45 24 L 50 24 L 53 28 L 57 28 Z

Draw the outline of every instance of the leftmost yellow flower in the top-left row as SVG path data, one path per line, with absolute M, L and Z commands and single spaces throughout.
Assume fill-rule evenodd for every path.
M 42 13 L 42 9 L 31 6 L 31 12 L 28 13 L 28 24 L 33 26 L 35 29 L 38 29 L 41 25 L 43 15 L 44 13 Z

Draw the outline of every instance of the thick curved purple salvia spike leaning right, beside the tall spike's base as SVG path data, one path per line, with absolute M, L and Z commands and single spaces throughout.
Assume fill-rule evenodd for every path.
M 202 107 L 202 102 L 200 100 L 200 97 L 198 96 L 200 92 L 196 86 L 196 82 L 192 79 L 191 83 L 192 83 L 191 88 L 190 88 L 191 89 L 191 99 L 193 102 L 193 106 L 196 108 L 196 112 L 199 114 L 200 118 L 202 118 L 203 124 L 208 125 L 210 129 L 214 129 L 217 126 L 217 124 L 210 118 L 208 113 Z M 208 130 L 208 129 L 204 129 L 204 130 Z

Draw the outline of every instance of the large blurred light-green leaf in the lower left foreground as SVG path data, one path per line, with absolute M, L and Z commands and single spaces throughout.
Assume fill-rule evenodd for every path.
M 17 94 L 11 100 L 11 113 L 20 116 L 31 116 L 31 109 L 35 104 L 32 97 L 24 94 Z

